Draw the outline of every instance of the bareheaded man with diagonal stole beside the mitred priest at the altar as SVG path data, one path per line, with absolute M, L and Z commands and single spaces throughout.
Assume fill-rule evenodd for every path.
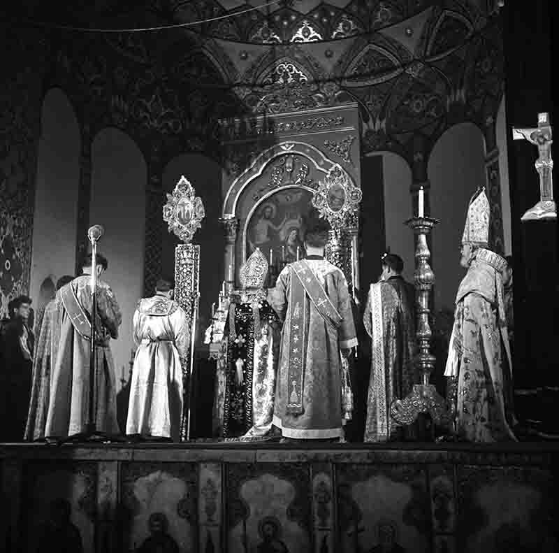
M 287 265 L 270 292 L 284 321 L 273 423 L 284 438 L 342 438 L 342 359 L 357 345 L 347 282 L 324 259 L 328 222 L 310 220 L 307 256 Z

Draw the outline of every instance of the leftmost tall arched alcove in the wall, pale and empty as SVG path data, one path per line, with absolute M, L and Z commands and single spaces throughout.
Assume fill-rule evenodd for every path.
M 31 255 L 31 298 L 41 307 L 41 283 L 73 274 L 80 180 L 80 129 L 68 96 L 45 94 L 38 145 Z

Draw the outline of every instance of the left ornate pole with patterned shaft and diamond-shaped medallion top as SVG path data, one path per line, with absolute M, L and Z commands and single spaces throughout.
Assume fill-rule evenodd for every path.
M 200 300 L 200 245 L 191 244 L 194 233 L 201 227 L 205 217 L 201 198 L 195 195 L 194 187 L 182 176 L 173 194 L 167 194 L 163 208 L 164 221 L 169 232 L 175 233 L 184 243 L 175 247 L 175 300 L 187 313 L 190 328 L 188 357 L 181 359 L 183 383 L 183 410 L 180 439 L 189 440 L 191 432 L 191 399 L 194 375 L 194 340 Z

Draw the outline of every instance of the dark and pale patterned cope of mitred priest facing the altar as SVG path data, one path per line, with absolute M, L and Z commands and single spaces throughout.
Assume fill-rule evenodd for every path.
M 217 401 L 222 398 L 224 405 L 221 431 L 224 438 L 247 433 L 256 437 L 271 426 L 279 319 L 265 300 L 259 303 L 259 314 L 255 329 L 252 303 L 235 304 L 234 329 L 231 319 L 226 327 L 225 390 L 222 394 L 218 386 L 217 392 Z M 242 371 L 242 382 L 238 379 L 238 371 Z M 219 411 L 219 405 L 217 408 Z

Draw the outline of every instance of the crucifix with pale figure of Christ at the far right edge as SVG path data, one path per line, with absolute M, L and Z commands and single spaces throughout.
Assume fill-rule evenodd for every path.
M 512 129 L 514 140 L 527 140 L 537 145 L 539 157 L 536 159 L 536 171 L 539 173 L 539 202 L 523 216 L 523 221 L 556 219 L 557 210 L 553 201 L 553 159 L 551 159 L 551 123 L 549 113 L 537 114 L 537 128 Z

